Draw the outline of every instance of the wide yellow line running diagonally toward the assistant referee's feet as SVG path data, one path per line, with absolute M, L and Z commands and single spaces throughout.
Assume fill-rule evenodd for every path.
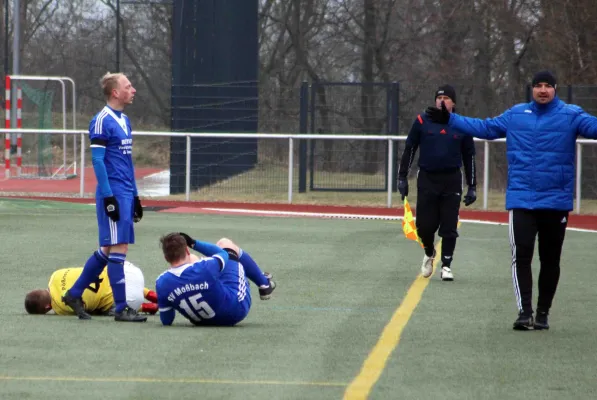
M 460 226 L 460 223 L 458 225 Z M 441 240 L 435 246 L 435 252 L 436 256 L 433 262 L 433 274 L 435 274 L 437 263 L 441 259 Z M 433 276 L 433 274 L 431 276 Z M 423 291 L 430 280 L 431 277 L 423 278 L 423 275 L 420 274 L 417 279 L 415 279 L 408 289 L 406 297 L 404 297 L 404 300 L 402 300 L 402 303 L 394 312 L 392 319 L 390 319 L 390 322 L 385 326 L 375 347 L 373 347 L 373 350 L 371 350 L 369 356 L 363 363 L 359 375 L 357 375 L 346 388 L 346 391 L 344 392 L 344 400 L 367 398 L 373 385 L 375 385 L 381 376 L 390 354 L 392 354 L 392 351 L 398 346 L 402 330 L 408 323 L 417 304 L 421 301 Z

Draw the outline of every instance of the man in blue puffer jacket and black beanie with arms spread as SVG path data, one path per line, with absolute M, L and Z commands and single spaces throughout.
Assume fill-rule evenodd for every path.
M 597 117 L 556 96 L 549 71 L 533 77 L 533 101 L 485 120 L 429 107 L 430 120 L 482 139 L 506 138 L 512 279 L 518 306 L 516 330 L 549 329 L 547 316 L 560 278 L 568 213 L 573 209 L 577 136 L 597 139 Z M 539 235 L 539 297 L 533 320 L 531 261 Z

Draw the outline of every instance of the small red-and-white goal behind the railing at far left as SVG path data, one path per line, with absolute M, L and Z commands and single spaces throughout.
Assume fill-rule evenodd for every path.
M 46 87 L 33 87 L 35 82 L 45 82 Z M 15 138 L 10 133 L 5 136 L 5 177 L 11 177 L 11 153 L 16 153 L 16 177 L 37 179 L 68 179 L 77 175 L 77 138 L 73 136 L 72 153 L 69 149 L 67 135 L 62 135 L 62 143 L 52 143 L 53 136 L 44 134 L 44 129 L 54 128 L 52 111 L 54 106 L 53 91 L 48 90 L 48 84 L 55 82 L 61 90 L 61 123 L 62 129 L 67 126 L 67 84 L 72 85 L 72 129 L 76 129 L 76 85 L 72 78 L 65 76 L 43 75 L 7 75 L 5 78 L 5 127 L 35 128 L 39 133 L 27 135 L 23 140 L 17 134 Z M 15 92 L 19 93 L 16 103 Z M 15 108 L 15 104 L 17 107 Z M 13 113 L 11 113 L 11 109 Z M 17 120 L 13 115 L 17 114 Z M 13 117 L 13 118 L 11 118 Z M 25 126 L 23 126 L 25 125 Z M 25 147 L 23 149 L 23 147 Z M 24 162 L 24 163 L 23 163 Z M 80 167 L 80 166 L 79 166 Z

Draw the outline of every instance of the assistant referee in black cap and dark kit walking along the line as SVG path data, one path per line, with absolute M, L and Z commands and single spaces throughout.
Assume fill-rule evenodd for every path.
M 450 85 L 440 86 L 435 101 L 452 111 L 456 104 L 456 91 Z M 458 214 L 462 199 L 462 173 L 464 165 L 468 191 L 464 204 L 469 206 L 477 199 L 475 144 L 471 136 L 458 129 L 430 121 L 418 115 L 406 138 L 406 145 L 398 171 L 398 190 L 408 196 L 408 173 L 419 152 L 417 174 L 417 233 L 425 249 L 421 274 L 428 278 L 433 273 L 435 259 L 435 232 L 442 238 L 441 279 L 454 280 L 452 258 L 458 237 Z

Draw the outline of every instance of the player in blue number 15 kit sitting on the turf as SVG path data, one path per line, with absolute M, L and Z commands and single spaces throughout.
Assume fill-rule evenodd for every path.
M 229 239 L 217 244 L 202 242 L 185 233 L 160 238 L 170 268 L 156 281 L 160 319 L 172 325 L 178 311 L 194 325 L 232 326 L 241 322 L 251 308 L 247 278 L 268 300 L 276 283 L 261 271 L 251 256 Z M 206 256 L 199 259 L 189 247 Z

